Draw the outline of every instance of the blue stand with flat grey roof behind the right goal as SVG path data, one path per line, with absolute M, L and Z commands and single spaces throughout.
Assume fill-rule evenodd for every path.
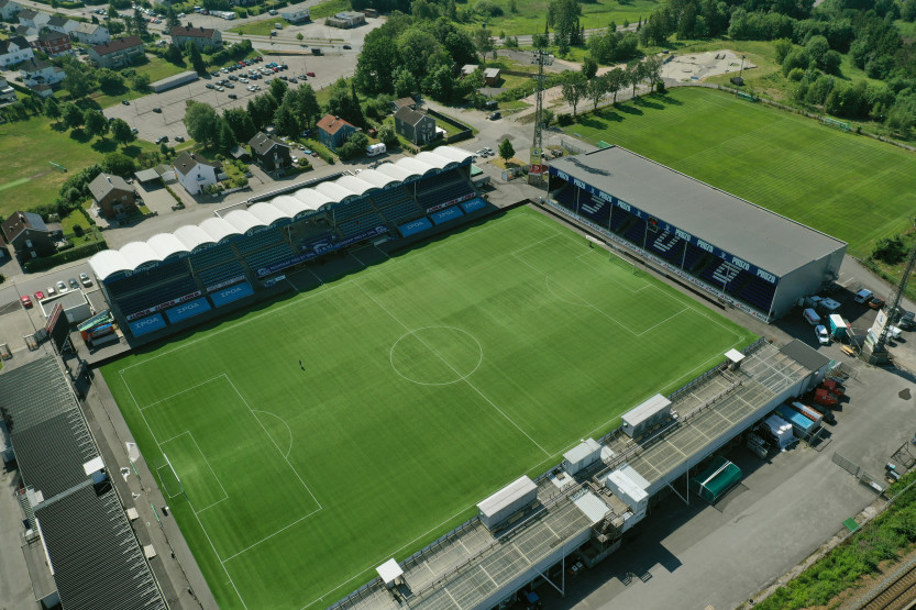
M 550 166 L 553 209 L 766 322 L 839 277 L 846 244 L 619 146 Z

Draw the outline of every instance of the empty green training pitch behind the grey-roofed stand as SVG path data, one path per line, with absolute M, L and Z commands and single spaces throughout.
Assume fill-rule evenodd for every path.
M 681 87 L 566 127 L 618 144 L 849 244 L 859 257 L 916 217 L 916 155 L 735 96 Z

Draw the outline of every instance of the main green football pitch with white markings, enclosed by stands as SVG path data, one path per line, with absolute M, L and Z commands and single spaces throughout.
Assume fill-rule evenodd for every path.
M 522 208 L 102 371 L 220 607 L 319 608 L 753 339 Z

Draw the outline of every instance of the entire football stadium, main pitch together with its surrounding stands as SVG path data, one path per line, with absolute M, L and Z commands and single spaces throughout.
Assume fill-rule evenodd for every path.
M 664 495 L 721 497 L 740 469 L 717 452 L 834 365 L 719 310 L 784 315 L 842 242 L 619 147 L 499 209 L 472 158 L 441 146 L 90 259 L 131 459 L 221 608 L 563 591 L 567 557 L 597 564 Z

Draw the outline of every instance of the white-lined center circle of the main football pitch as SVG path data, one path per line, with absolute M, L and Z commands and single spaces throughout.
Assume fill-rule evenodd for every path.
M 484 362 L 477 339 L 454 326 L 423 326 L 402 334 L 390 352 L 395 373 L 421 386 L 466 379 Z

